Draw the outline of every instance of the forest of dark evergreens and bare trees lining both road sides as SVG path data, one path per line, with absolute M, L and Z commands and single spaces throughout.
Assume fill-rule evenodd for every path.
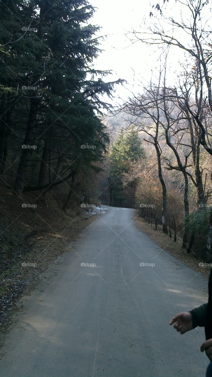
M 0 2 L 1 190 L 20 205 L 35 193 L 35 211 L 49 193 L 65 214 L 82 203 L 135 208 L 184 253 L 210 262 L 211 9 L 189 0 L 174 18 L 170 3 L 152 5 L 146 29 L 129 37 L 159 46 L 157 71 L 114 105 L 126 80 L 94 68 L 102 38 L 92 5 Z M 174 84 L 173 49 L 183 57 Z M 6 240 L 2 253 L 12 252 Z

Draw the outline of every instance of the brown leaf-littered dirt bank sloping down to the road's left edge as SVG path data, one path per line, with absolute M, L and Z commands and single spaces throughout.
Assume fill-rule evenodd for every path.
M 0 331 L 10 328 L 15 300 L 34 289 L 48 264 L 74 251 L 78 234 L 96 216 L 81 208 L 62 210 L 54 195 L 26 193 L 23 200 L 0 187 Z

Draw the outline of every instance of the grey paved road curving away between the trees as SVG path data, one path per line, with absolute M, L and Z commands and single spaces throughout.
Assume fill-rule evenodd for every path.
M 20 300 L 1 377 L 204 376 L 203 328 L 181 335 L 168 322 L 206 301 L 207 279 L 161 251 L 135 216 L 109 207 Z

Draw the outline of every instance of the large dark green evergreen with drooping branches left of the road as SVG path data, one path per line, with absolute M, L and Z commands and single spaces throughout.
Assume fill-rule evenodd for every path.
M 101 50 L 93 37 L 99 28 L 88 25 L 94 8 L 86 0 L 11 2 L 9 11 L 0 6 L 2 22 L 9 20 L 1 37 L 7 67 L 0 76 L 1 169 L 6 145 L 21 155 L 14 185 L 20 196 L 51 188 L 80 170 L 97 170 L 108 143 L 97 115 L 109 105 L 99 96 L 111 97 L 122 80 L 105 83 L 109 72 L 92 67 Z

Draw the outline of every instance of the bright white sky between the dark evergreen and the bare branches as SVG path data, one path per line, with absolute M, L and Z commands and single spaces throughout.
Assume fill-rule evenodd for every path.
M 91 23 L 102 27 L 100 34 L 107 35 L 103 41 L 102 48 L 105 50 L 96 60 L 95 68 L 101 70 L 113 70 L 114 74 L 105 80 L 113 81 L 123 78 L 128 81 L 124 89 L 117 86 L 116 100 L 121 103 L 118 97 L 126 98 L 133 91 L 137 93 L 139 81 L 144 84 L 149 81 L 152 71 L 158 65 L 158 52 L 154 48 L 137 42 L 132 44 L 126 37 L 126 33 L 134 28 L 139 31 L 144 27 L 143 18 L 149 21 L 151 7 L 149 0 L 90 0 L 90 3 L 97 7 Z M 153 0 L 153 3 L 154 0 Z M 174 2 L 175 3 L 175 2 Z M 176 68 L 179 57 L 179 50 L 172 52 L 172 68 Z M 106 99 L 106 98 L 104 98 Z

